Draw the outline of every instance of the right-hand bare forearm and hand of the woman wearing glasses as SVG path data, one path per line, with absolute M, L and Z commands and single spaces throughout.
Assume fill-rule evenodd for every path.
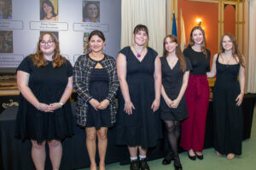
M 65 103 L 67 102 L 67 99 L 69 99 L 69 97 L 72 94 L 72 90 L 73 90 L 73 77 L 68 77 L 67 86 L 64 90 L 64 93 L 61 96 L 60 102 L 50 104 L 49 106 L 51 107 L 51 109 L 56 110 L 61 108 L 62 105 L 65 105 Z

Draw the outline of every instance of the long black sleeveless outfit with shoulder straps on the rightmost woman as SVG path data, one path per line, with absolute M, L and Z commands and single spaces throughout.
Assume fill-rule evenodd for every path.
M 242 113 L 236 106 L 241 93 L 237 81 L 240 65 L 223 65 L 216 60 L 217 76 L 213 88 L 214 148 L 221 154 L 241 155 Z

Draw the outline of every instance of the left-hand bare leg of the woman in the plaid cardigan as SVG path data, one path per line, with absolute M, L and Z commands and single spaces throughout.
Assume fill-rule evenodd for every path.
M 86 147 L 90 157 L 90 170 L 96 170 L 97 165 L 95 161 L 96 156 L 96 128 L 85 127 L 86 131 Z

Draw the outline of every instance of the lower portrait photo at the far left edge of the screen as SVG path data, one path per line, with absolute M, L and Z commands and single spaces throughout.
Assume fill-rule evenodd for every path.
M 0 31 L 0 54 L 14 53 L 13 31 Z

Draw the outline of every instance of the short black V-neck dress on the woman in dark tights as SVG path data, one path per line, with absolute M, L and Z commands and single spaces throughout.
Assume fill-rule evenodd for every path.
M 186 71 L 191 70 L 189 59 L 186 59 Z M 180 89 L 183 85 L 183 71 L 180 68 L 180 62 L 177 60 L 176 65 L 171 69 L 166 57 L 161 57 L 162 84 L 165 88 L 166 95 L 170 99 L 177 99 Z M 176 109 L 168 107 L 165 99 L 161 97 L 160 117 L 164 121 L 182 121 L 189 116 L 185 96 L 180 100 Z

